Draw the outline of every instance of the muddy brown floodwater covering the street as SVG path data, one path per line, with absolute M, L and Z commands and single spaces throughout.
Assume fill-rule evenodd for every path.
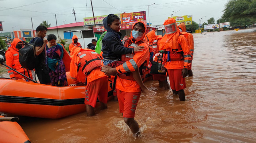
M 157 95 L 140 97 L 135 114 L 140 138 L 132 137 L 116 101 L 106 110 L 96 108 L 92 117 L 20 117 L 19 124 L 32 143 L 255 143 L 256 28 L 193 36 L 186 101 L 147 81 Z

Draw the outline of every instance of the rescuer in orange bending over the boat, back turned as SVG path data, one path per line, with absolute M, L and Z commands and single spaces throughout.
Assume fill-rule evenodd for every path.
M 108 101 L 108 77 L 100 71 L 101 56 L 91 49 L 82 49 L 74 46 L 71 52 L 70 76 L 76 84 L 69 86 L 85 85 L 86 112 L 88 116 L 94 115 L 97 97 L 101 109 L 107 108 Z

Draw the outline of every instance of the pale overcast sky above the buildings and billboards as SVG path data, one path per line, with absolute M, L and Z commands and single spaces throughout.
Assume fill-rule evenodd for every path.
M 225 4 L 229 0 L 92 0 L 94 16 L 108 15 L 110 13 L 129 13 L 146 11 L 148 22 L 148 6 L 150 23 L 163 24 L 168 16 L 193 15 L 193 21 L 199 23 L 203 18 L 214 17 L 215 22 L 221 18 Z M 154 5 L 151 5 L 155 3 Z M 3 32 L 12 29 L 34 29 L 44 20 L 56 26 L 74 23 L 72 14 L 75 9 L 76 21 L 83 22 L 83 18 L 93 16 L 90 0 L 0 0 L 0 21 L 3 22 Z

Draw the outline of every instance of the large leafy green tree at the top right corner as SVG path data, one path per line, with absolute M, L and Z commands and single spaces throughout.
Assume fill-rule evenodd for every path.
M 231 26 L 246 26 L 255 23 L 256 0 L 230 0 L 225 4 L 222 19 L 223 22 L 230 22 Z

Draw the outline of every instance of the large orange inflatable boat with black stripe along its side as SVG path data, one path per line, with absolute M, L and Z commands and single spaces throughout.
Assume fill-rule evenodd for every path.
M 72 83 L 67 72 L 68 85 Z M 109 86 L 110 84 L 106 85 Z M 86 111 L 86 86 L 56 87 L 21 80 L 0 79 L 0 112 L 58 119 Z M 108 100 L 113 91 L 109 86 Z

